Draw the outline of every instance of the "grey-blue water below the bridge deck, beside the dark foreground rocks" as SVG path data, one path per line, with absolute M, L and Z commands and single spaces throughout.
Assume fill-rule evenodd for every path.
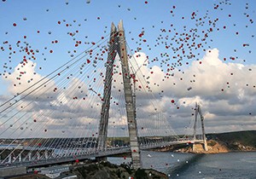
M 131 159 L 108 158 L 115 164 Z M 250 178 L 256 179 L 256 152 L 195 155 L 143 151 L 143 168 L 160 170 L 170 178 Z

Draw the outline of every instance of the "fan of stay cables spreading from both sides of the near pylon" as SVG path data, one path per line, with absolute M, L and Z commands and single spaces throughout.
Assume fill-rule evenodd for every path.
M 118 50 L 115 42 L 111 43 L 118 32 L 108 36 L 108 45 L 106 36 L 28 88 L 20 88 L 18 94 L 0 106 L 3 121 L 0 124 L 1 164 L 99 152 L 99 120 L 105 110 L 103 96 L 107 94 L 111 94 L 111 98 L 104 150 L 129 147 L 122 63 L 118 53 L 105 61 L 107 55 Z M 132 54 L 129 46 L 128 49 Z M 184 139 L 172 130 L 165 113 L 158 107 L 154 91 L 141 70 L 142 65 L 137 63 L 135 55 L 128 57 L 132 93 L 137 97 L 134 102 L 137 105 L 146 101 L 149 107 L 148 111 L 137 105 L 139 145 L 164 146 Z M 110 61 L 113 61 L 112 78 L 106 78 Z M 147 59 L 143 63 L 145 61 Z M 35 65 L 26 61 L 20 63 L 20 68 Z M 21 77 L 21 84 L 23 80 L 26 74 Z M 112 80 L 112 86 L 104 87 L 103 84 L 109 84 L 108 80 Z

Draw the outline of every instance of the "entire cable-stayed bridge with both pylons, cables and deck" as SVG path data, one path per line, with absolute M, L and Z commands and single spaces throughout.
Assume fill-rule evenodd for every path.
M 20 91 L 0 106 L 0 167 L 131 153 L 137 169 L 143 149 L 202 143 L 207 150 L 201 107 L 195 104 L 183 136 L 172 130 L 155 100 L 157 89 L 148 83 L 153 72 L 143 73 L 147 57 L 131 55 L 122 21 L 112 24 L 109 40 L 91 44 L 45 77 L 35 74 L 37 80 L 25 71 L 35 64 L 20 63 Z

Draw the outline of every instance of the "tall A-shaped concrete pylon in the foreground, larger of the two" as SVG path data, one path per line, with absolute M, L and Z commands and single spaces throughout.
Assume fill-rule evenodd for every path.
M 110 95 L 112 86 L 112 73 L 113 73 L 113 61 L 116 54 L 119 55 L 122 75 L 124 81 L 125 90 L 125 108 L 126 116 L 129 130 L 130 147 L 131 147 L 131 163 L 133 168 L 141 168 L 141 153 L 138 145 L 137 139 L 137 120 L 136 120 L 136 109 L 135 109 L 135 95 L 133 95 L 131 89 L 131 78 L 128 66 L 128 55 L 126 50 L 125 41 L 125 30 L 123 26 L 123 21 L 120 20 L 118 29 L 116 26 L 111 25 L 110 39 L 109 39 L 109 49 L 108 49 L 108 66 L 106 69 L 106 83 L 104 86 L 103 104 L 101 121 L 99 125 L 99 136 L 98 136 L 98 150 L 104 150 L 107 146 L 107 136 L 108 136 L 108 117 L 109 117 L 109 107 L 110 107 Z

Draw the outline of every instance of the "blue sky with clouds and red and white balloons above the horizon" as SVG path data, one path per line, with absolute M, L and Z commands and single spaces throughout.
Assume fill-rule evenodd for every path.
M 117 25 L 119 20 L 124 22 L 130 65 L 137 71 L 140 134 L 153 134 L 154 130 L 169 134 L 170 125 L 183 134 L 194 118 L 195 102 L 201 105 L 207 133 L 255 130 L 255 10 L 254 0 L 2 0 L 1 103 L 38 80 L 48 85 L 26 96 L 37 89 L 33 86 L 20 95 L 24 97 L 20 103 L 1 113 L 1 136 L 42 131 L 46 137 L 96 136 L 107 61 L 107 53 L 102 51 L 108 49 L 111 23 Z M 57 77 L 49 76 L 96 45 L 99 48 L 84 57 L 87 66 L 71 66 Z M 102 60 L 94 63 L 93 58 L 100 56 L 96 53 L 102 54 Z M 119 58 L 116 60 L 112 135 L 127 129 Z M 86 104 L 84 96 L 90 97 Z M 20 113 L 11 117 L 15 111 Z M 162 118 L 157 118 L 159 113 Z

